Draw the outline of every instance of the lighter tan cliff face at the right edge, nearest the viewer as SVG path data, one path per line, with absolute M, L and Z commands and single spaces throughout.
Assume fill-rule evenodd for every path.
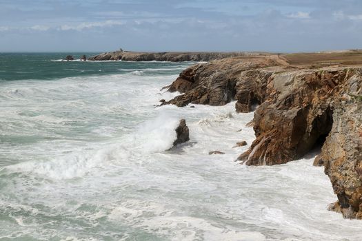
M 361 93 L 361 80 L 361 72 L 352 76 L 345 83 L 347 93 Z M 334 104 L 332 130 L 319 156 L 338 197 L 332 208 L 343 213 L 345 218 L 362 219 L 361 114 L 361 98 L 346 95 L 339 99 Z

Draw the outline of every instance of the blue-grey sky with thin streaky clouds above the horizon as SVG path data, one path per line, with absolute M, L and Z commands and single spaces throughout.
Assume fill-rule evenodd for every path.
M 362 48 L 361 0 L 0 0 L 0 52 Z

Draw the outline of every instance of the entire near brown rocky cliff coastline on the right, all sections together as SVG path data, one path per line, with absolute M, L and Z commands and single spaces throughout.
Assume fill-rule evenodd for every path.
M 236 100 L 237 112 L 255 110 L 257 138 L 238 158 L 246 165 L 283 164 L 321 147 L 317 162 L 323 163 L 338 198 L 332 209 L 361 219 L 361 63 L 301 64 L 295 59 L 239 56 L 193 65 L 168 86 L 183 94 L 162 105 Z

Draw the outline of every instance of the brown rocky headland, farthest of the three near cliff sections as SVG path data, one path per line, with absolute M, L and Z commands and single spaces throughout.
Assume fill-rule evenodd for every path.
M 237 99 L 237 112 L 250 112 L 263 102 L 265 78 L 272 72 L 265 67 L 283 65 L 272 57 L 234 57 L 193 65 L 181 72 L 169 91 L 184 93 L 165 104 L 183 107 L 189 103 L 225 105 Z

